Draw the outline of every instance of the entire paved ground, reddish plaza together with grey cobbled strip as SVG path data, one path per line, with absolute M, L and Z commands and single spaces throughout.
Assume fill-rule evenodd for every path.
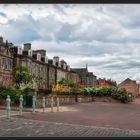
M 0 110 L 0 136 L 140 136 L 140 100 L 132 104 L 92 102 L 54 109 L 13 111 L 7 120 Z

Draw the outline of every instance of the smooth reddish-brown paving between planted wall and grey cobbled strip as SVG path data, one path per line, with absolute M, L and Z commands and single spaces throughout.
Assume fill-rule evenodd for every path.
M 60 107 L 60 112 L 40 111 L 23 116 L 49 122 L 140 130 L 140 104 L 92 102 Z

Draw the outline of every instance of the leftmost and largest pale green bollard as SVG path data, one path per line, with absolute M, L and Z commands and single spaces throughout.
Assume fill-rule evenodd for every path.
M 7 117 L 7 119 L 10 119 L 10 115 L 11 115 L 10 103 L 11 103 L 10 96 L 7 95 L 7 98 L 6 98 L 6 117 Z

